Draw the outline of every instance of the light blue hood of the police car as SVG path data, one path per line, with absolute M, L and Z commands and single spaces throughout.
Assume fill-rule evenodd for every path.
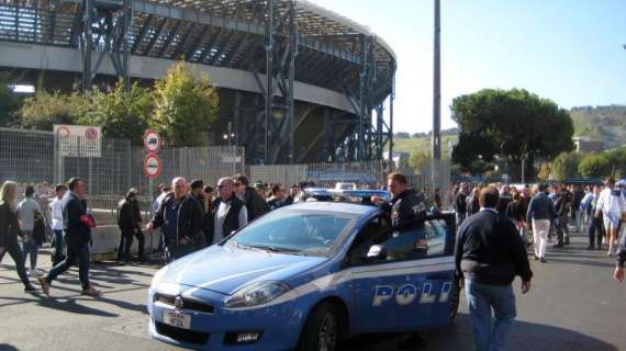
M 231 295 L 258 281 L 282 281 L 299 275 L 327 258 L 272 253 L 212 246 L 169 264 L 161 282 L 182 284 Z

